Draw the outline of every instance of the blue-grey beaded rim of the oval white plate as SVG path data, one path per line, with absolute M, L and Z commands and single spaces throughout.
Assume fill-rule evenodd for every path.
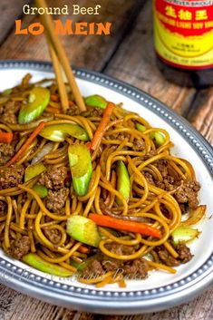
M 0 60 L 0 70 L 5 69 L 30 69 L 41 72 L 53 72 L 52 63 L 34 60 Z M 120 92 L 131 98 L 131 100 L 142 103 L 151 112 L 158 114 L 160 118 L 167 121 L 169 125 L 188 141 L 193 150 L 203 160 L 209 173 L 213 176 L 213 148 L 179 114 L 151 97 L 148 93 L 142 92 L 140 89 L 126 82 L 114 79 L 111 76 L 75 67 L 73 68 L 73 72 L 77 78 L 95 82 L 115 92 Z M 213 254 L 189 276 L 171 285 L 160 286 L 150 290 L 114 292 L 64 285 L 43 276 L 36 276 L 27 269 L 16 267 L 4 258 L 0 258 L 0 282 L 6 286 L 11 286 L 29 296 L 43 298 L 44 301 L 56 305 L 105 314 L 147 313 L 179 305 L 194 296 L 198 296 L 198 294 L 213 283 L 212 272 Z

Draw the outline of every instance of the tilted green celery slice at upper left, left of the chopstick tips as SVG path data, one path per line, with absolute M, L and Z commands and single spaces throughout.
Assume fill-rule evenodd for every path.
M 34 87 L 29 94 L 28 102 L 22 105 L 18 114 L 18 123 L 28 123 L 37 119 L 50 101 L 50 91 L 42 87 Z

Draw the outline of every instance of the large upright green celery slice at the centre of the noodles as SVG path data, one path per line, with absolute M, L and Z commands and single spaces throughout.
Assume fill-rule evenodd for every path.
M 68 156 L 73 178 L 73 189 L 79 196 L 84 196 L 92 178 L 92 159 L 88 148 L 83 144 L 69 146 Z

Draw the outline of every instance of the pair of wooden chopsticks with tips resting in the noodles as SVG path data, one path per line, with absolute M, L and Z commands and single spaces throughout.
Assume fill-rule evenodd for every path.
M 38 7 L 46 8 L 45 0 L 35 0 Z M 65 113 L 69 108 L 69 102 L 64 84 L 64 75 L 70 85 L 73 92 L 74 100 L 80 110 L 80 112 L 86 111 L 85 104 L 82 99 L 82 94 L 75 81 L 72 67 L 63 49 L 63 45 L 56 34 L 54 34 L 53 18 L 50 15 L 40 16 L 42 23 L 44 24 L 45 35 L 47 38 L 47 44 L 53 61 L 53 69 L 58 83 L 59 94 L 61 97 L 63 112 Z

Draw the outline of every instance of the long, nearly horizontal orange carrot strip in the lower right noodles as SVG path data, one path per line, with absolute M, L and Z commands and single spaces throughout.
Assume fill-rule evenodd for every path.
M 98 226 L 115 228 L 123 231 L 140 233 L 141 235 L 160 238 L 160 230 L 153 228 L 145 223 L 126 221 L 118 218 L 102 216 L 96 213 L 91 213 L 89 218 L 92 219 Z

